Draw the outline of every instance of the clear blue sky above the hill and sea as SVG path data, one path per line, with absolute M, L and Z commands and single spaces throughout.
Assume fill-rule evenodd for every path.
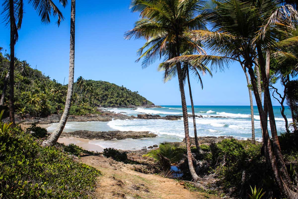
M 24 2 L 25 13 L 15 45 L 16 56 L 27 60 L 32 68 L 37 66 L 38 70 L 59 83 L 63 84 L 65 78 L 67 84 L 70 5 L 65 9 L 59 5 L 65 21 L 58 27 L 54 18 L 51 24 L 42 24 L 32 7 Z M 58 3 L 58 0 L 54 2 Z M 129 2 L 76 2 L 75 79 L 83 76 L 85 79 L 109 81 L 139 91 L 156 105 L 181 105 L 178 79 L 164 84 L 162 72 L 156 70 L 160 61 L 146 69 L 142 69 L 141 63 L 135 63 L 136 50 L 145 41 L 123 38 L 125 31 L 130 30 L 139 17 L 138 13 L 128 10 Z M 3 8 L 0 8 L 2 12 Z M 9 53 L 9 28 L 1 23 L 0 30 L 0 46 Z M 205 75 L 203 90 L 195 79 L 190 80 L 195 105 L 249 105 L 246 78 L 238 63 L 230 65 L 224 72 L 214 72 L 213 78 Z M 187 105 L 190 105 L 187 88 L 185 93 Z M 273 104 L 279 105 L 274 100 Z

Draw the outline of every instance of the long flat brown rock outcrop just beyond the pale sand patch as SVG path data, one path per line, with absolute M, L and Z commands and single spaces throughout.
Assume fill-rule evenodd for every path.
M 64 137 L 77 137 L 85 139 L 104 139 L 112 140 L 116 138 L 117 140 L 123 140 L 126 138 L 154 138 L 157 135 L 150 133 L 149 131 L 72 131 L 72 132 L 62 132 Z

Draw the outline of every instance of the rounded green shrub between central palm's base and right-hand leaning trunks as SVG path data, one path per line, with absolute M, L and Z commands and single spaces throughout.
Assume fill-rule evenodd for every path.
M 232 194 L 244 197 L 250 184 L 261 185 L 262 179 L 271 175 L 261 155 L 261 144 L 225 139 L 215 148 L 218 161 L 224 165 L 217 166 L 214 172 L 218 174 L 218 183 L 227 192 L 233 190 Z

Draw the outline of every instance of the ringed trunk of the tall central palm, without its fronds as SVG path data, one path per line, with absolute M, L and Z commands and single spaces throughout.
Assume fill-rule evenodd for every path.
M 179 45 L 179 34 L 176 33 L 176 56 L 180 55 L 180 45 Z M 181 94 L 181 104 L 182 104 L 182 113 L 183 113 L 183 123 L 184 123 L 184 133 L 185 133 L 185 143 L 186 143 L 186 151 L 187 151 L 187 161 L 188 167 L 190 170 L 190 175 L 193 178 L 193 181 L 198 181 L 199 177 L 195 172 L 193 167 L 192 161 L 192 153 L 190 150 L 190 138 L 189 138 L 189 129 L 188 129 L 188 114 L 187 114 L 187 106 L 185 100 L 185 93 L 184 93 L 184 84 L 182 79 L 182 70 L 181 70 L 181 63 L 177 63 L 177 76 L 179 81 L 179 88 Z

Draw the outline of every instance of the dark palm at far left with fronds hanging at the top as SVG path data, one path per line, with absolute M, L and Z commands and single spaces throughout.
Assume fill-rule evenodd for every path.
M 59 0 L 59 2 L 66 6 L 67 0 Z M 29 4 L 32 5 L 33 9 L 38 11 L 38 16 L 41 17 L 41 21 L 44 23 L 50 22 L 50 16 L 57 16 L 57 24 L 64 19 L 61 11 L 52 1 L 41 1 L 41 0 L 29 0 Z M 20 30 L 23 19 L 23 0 L 4 0 L 2 4 L 4 19 L 6 24 L 10 24 L 10 68 L 9 68 L 9 120 L 15 124 L 14 116 L 14 65 L 15 65 L 15 43 L 18 41 L 18 30 Z

